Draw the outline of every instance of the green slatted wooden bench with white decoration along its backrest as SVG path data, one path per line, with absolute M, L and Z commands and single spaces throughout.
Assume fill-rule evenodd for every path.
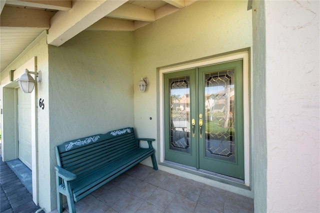
M 139 140 L 147 141 L 149 147 L 139 147 Z M 62 194 L 67 198 L 69 212 L 75 212 L 74 202 L 148 156 L 157 170 L 153 140 L 136 138 L 133 128 L 127 127 L 55 146 L 58 212 L 62 212 Z

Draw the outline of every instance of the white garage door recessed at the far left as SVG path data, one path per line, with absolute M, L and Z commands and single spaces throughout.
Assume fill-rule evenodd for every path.
M 31 94 L 18 89 L 18 157 L 31 169 Z

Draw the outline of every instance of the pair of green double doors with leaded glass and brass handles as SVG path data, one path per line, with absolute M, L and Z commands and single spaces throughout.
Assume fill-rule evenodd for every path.
M 165 160 L 244 179 L 242 64 L 163 75 Z

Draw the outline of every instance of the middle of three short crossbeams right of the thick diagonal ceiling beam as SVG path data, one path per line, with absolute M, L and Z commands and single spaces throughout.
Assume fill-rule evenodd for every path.
M 123 4 L 110 12 L 107 16 L 129 20 L 155 21 L 153 9 L 144 8 L 131 3 Z

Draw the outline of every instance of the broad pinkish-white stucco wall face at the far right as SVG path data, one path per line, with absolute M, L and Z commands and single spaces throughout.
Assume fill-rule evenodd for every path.
M 319 3 L 265 1 L 268 212 L 320 210 Z

